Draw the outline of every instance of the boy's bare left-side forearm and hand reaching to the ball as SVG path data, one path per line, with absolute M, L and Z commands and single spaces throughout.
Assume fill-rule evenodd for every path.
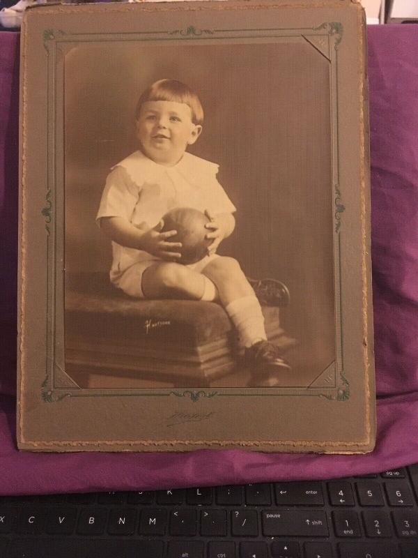
M 104 233 L 121 246 L 145 250 L 149 254 L 175 262 L 180 259 L 181 254 L 173 250 L 181 248 L 182 245 L 180 242 L 168 241 L 177 231 L 160 232 L 163 225 L 160 221 L 154 228 L 145 223 L 135 226 L 123 217 L 102 217 L 100 223 Z

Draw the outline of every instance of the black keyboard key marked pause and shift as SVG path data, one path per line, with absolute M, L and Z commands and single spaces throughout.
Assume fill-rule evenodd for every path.
M 324 511 L 268 510 L 263 511 L 264 536 L 328 536 Z

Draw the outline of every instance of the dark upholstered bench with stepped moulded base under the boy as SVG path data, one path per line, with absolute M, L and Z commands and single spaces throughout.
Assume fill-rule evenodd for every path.
M 276 302 L 285 299 L 279 293 Z M 263 306 L 263 313 L 268 338 L 289 344 L 278 306 Z M 65 370 L 80 387 L 92 387 L 93 377 L 100 386 L 100 376 L 118 388 L 132 387 L 133 379 L 210 386 L 231 374 L 239 358 L 231 322 L 217 303 L 131 299 L 102 273 L 65 278 Z

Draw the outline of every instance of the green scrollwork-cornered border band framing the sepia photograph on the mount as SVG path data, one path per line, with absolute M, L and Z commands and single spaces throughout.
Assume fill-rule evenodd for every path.
M 56 277 L 59 276 L 59 269 L 56 267 L 56 209 L 60 207 L 60 199 L 56 199 L 56 193 L 60 190 L 56 188 L 56 176 L 59 158 L 56 156 L 56 128 L 59 123 L 56 121 L 56 102 L 58 98 L 59 87 L 63 86 L 63 56 L 64 52 L 68 52 L 77 43 L 91 43 L 102 40 L 107 41 L 161 41 L 161 40 L 222 40 L 231 38 L 274 38 L 276 40 L 286 40 L 286 38 L 311 38 L 322 37 L 327 39 L 325 46 L 316 47 L 321 54 L 330 61 L 330 100 L 332 105 L 332 134 L 331 137 L 336 138 L 332 142 L 332 169 L 334 185 L 334 253 L 336 258 L 334 261 L 335 272 L 335 313 L 336 313 L 336 363 L 335 363 L 335 381 L 334 386 L 330 388 L 269 388 L 256 389 L 251 388 L 242 392 L 239 389 L 226 388 L 222 391 L 194 391 L 185 389 L 185 391 L 173 391 L 173 389 L 165 389 L 164 391 L 152 391 L 148 389 L 131 389 L 131 390 L 100 390 L 100 389 L 80 389 L 80 388 L 57 388 L 54 386 L 54 375 L 59 370 L 56 364 L 56 307 L 59 306 L 59 296 L 57 296 Z M 47 193 L 45 196 L 46 205 L 40 213 L 45 218 L 45 229 L 47 231 L 47 359 L 46 359 L 46 376 L 41 386 L 41 398 L 44 402 L 59 402 L 65 398 L 72 397 L 177 397 L 189 400 L 191 402 L 199 402 L 215 397 L 235 397 L 235 396 L 316 396 L 326 398 L 330 401 L 346 401 L 350 397 L 350 386 L 348 380 L 343 375 L 343 351 L 342 351 L 342 323 L 341 323 L 341 213 L 345 210 L 342 203 L 342 195 L 339 190 L 339 148 L 338 148 L 338 49 L 343 38 L 343 25 L 339 22 L 324 22 L 318 27 L 309 29 L 196 29 L 193 25 L 185 27 L 185 29 L 174 29 L 171 31 L 143 31 L 137 33 L 65 33 L 61 29 L 45 29 L 42 33 L 43 45 L 45 47 L 48 59 L 47 71 L 47 93 L 48 93 L 48 151 L 53 156 L 48 157 L 48 183 Z M 333 46 L 333 48 L 332 48 Z M 323 52 L 326 50 L 326 53 Z M 61 56 L 61 74 L 57 65 Z M 61 80 L 61 81 L 60 81 Z M 62 126 L 62 125 L 61 125 Z M 63 130 L 61 130 L 63 133 Z M 49 241 L 50 237 L 50 241 Z M 61 349 L 63 350 L 63 349 Z M 337 379 L 339 375 L 339 380 Z M 279 390 L 279 392 L 277 391 Z

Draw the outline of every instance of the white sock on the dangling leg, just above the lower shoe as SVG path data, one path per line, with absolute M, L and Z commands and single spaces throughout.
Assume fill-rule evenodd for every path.
M 237 329 L 242 345 L 251 347 L 257 341 L 267 340 L 263 312 L 254 294 L 232 301 L 225 311 Z

